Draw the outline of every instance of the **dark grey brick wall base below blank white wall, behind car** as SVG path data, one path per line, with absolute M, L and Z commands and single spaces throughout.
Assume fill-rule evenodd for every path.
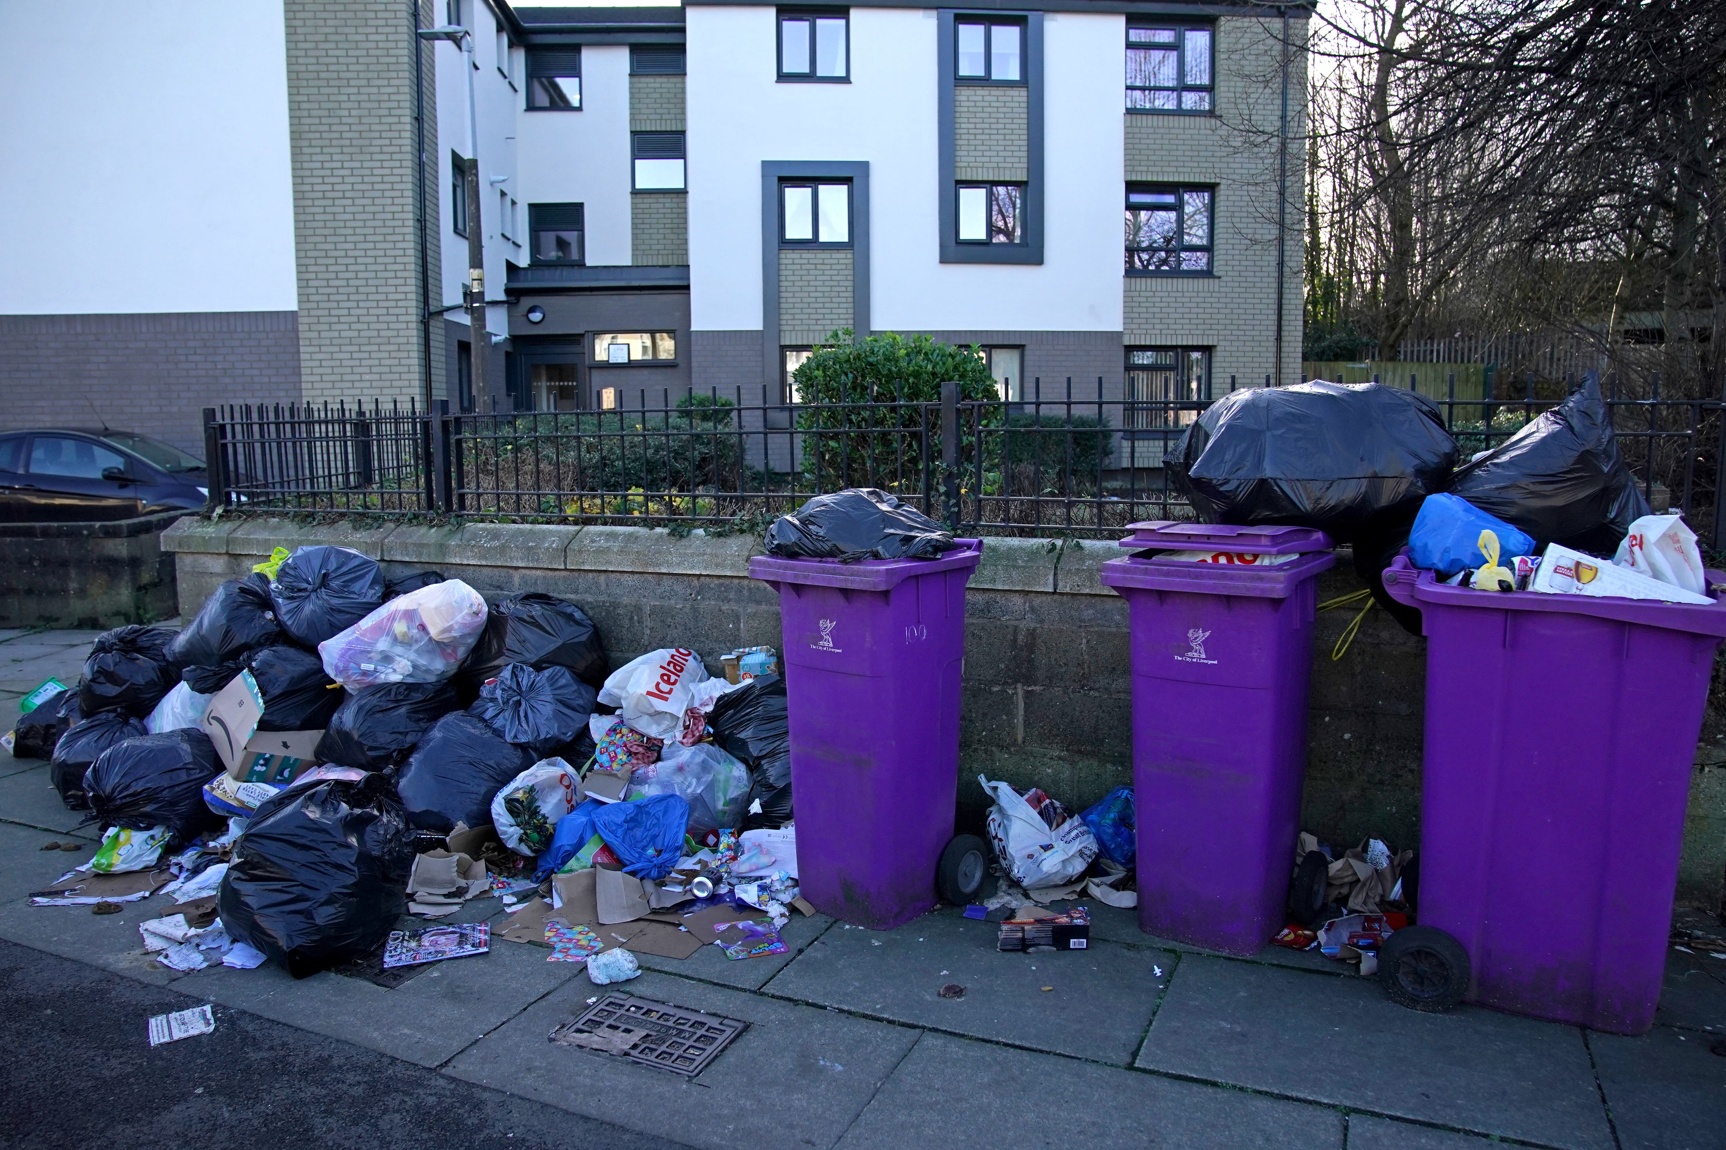
M 138 431 L 204 455 L 204 409 L 300 398 L 293 312 L 0 316 L 0 429 Z

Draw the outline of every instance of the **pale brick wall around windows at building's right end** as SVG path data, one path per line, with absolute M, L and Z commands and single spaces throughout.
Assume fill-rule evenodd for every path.
M 1305 21 L 1291 21 L 1296 38 Z M 1234 376 L 1262 384 L 1274 364 L 1281 21 L 1217 21 L 1217 116 L 1125 116 L 1129 181 L 1217 184 L 1215 278 L 1127 276 L 1125 333 L 1132 345 L 1213 347 L 1217 393 Z M 1307 69 L 1289 78 L 1288 240 L 1282 302 L 1282 381 L 1300 378 Z

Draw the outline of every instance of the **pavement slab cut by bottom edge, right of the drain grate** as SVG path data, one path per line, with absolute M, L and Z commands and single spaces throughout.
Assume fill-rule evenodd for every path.
M 956 1103 L 967 1098 L 1020 1100 L 1030 1114 L 1025 1121 L 1036 1126 L 1027 1129 L 1008 1110 L 979 1116 L 980 1121 L 954 1121 Z M 839 1140 L 841 1150 L 994 1150 L 1003 1145 L 1319 1150 L 1343 1145 L 1343 1116 L 1244 1090 L 923 1034 Z

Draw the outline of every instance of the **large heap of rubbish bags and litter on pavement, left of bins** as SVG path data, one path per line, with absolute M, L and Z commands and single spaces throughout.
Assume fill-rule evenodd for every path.
M 102 847 L 33 902 L 166 884 L 185 912 L 143 924 L 159 960 L 297 978 L 450 953 L 399 919 L 476 897 L 544 902 L 532 941 L 628 978 L 627 952 L 583 950 L 570 883 L 602 893 L 608 922 L 730 907 L 727 953 L 782 952 L 799 902 L 785 686 L 772 648 L 725 669 L 665 648 L 611 671 L 554 595 L 487 602 L 349 548 L 278 548 L 180 633 L 109 631 L 76 686 L 35 693 L 12 753 L 50 759 Z M 623 895 L 640 916 L 611 917 Z M 459 953 L 485 948 L 473 929 Z

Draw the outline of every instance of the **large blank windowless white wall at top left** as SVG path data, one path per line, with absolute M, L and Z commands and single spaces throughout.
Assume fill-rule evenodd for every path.
M 281 0 L 7 0 L 0 109 L 0 314 L 297 307 Z

